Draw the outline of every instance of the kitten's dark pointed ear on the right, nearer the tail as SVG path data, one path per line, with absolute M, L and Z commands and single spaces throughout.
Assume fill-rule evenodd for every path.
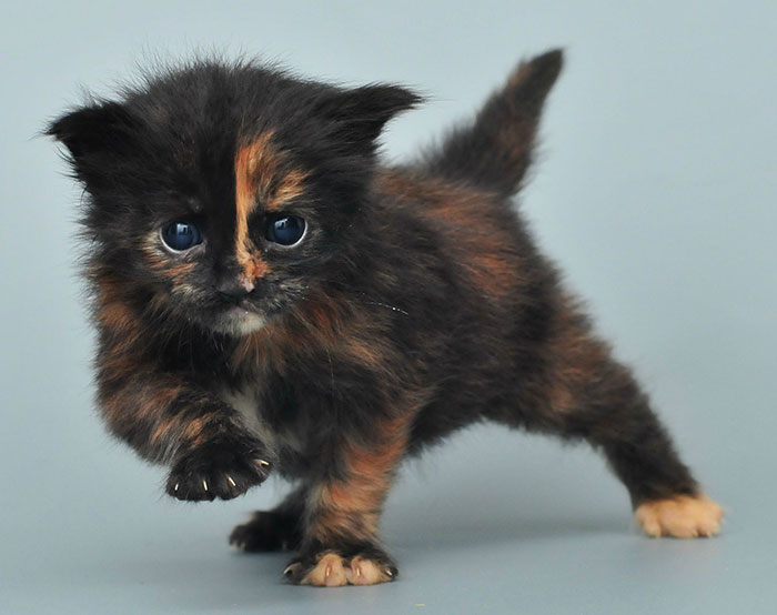
M 389 120 L 421 102 L 423 98 L 406 88 L 375 83 L 327 97 L 319 112 L 341 142 L 371 151 Z

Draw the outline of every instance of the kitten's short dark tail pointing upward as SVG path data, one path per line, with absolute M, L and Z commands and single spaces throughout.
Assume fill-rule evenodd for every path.
M 543 103 L 562 70 L 556 49 L 522 62 L 480 111 L 425 160 L 425 169 L 502 196 L 515 194 L 532 162 Z

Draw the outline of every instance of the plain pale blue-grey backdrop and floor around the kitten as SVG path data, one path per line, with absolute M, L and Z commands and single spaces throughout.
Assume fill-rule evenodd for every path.
M 0 612 L 777 612 L 777 3 L 2 8 Z M 559 44 L 524 210 L 726 506 L 723 535 L 642 537 L 593 452 L 478 427 L 405 466 L 384 523 L 398 583 L 282 584 L 285 556 L 243 556 L 225 537 L 283 485 L 175 503 L 161 468 L 104 434 L 74 266 L 80 191 L 36 131 L 79 84 L 107 93 L 138 62 L 204 48 L 422 88 L 430 104 L 385 138 L 400 157 L 519 57 Z

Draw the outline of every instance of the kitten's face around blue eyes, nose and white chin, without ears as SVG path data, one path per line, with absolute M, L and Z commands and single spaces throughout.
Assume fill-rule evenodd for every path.
M 238 137 L 221 163 L 193 168 L 185 161 L 208 149 L 179 150 L 159 192 L 149 188 L 153 206 L 133 206 L 138 273 L 175 317 L 222 333 L 255 331 L 303 300 L 342 249 L 336 225 L 353 208 L 333 202 L 273 135 Z

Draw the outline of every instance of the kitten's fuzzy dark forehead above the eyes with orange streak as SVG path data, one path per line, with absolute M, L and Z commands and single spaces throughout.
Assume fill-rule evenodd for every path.
M 157 79 L 128 101 L 149 129 L 141 163 L 161 189 L 205 212 L 282 209 L 309 179 L 294 143 L 305 132 L 300 87 L 265 69 L 221 64 Z

